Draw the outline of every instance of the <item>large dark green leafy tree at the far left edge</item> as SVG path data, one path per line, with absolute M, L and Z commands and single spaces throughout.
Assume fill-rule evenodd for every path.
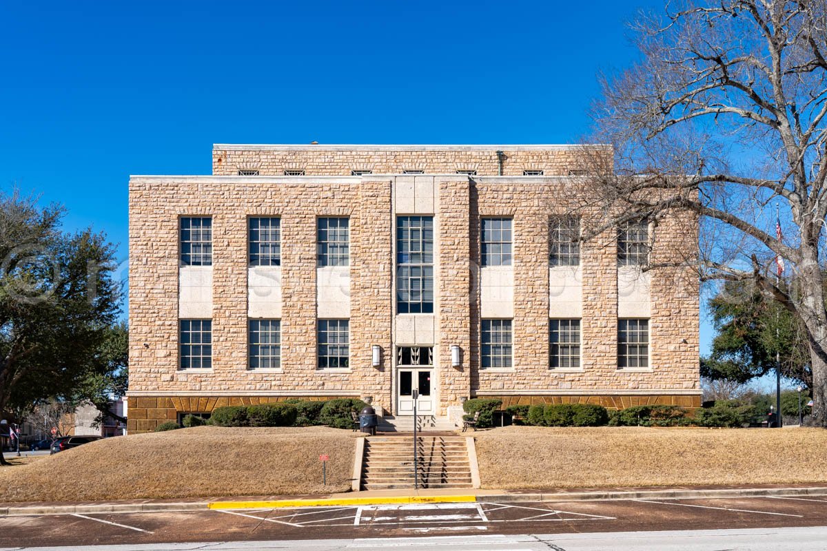
M 65 209 L 0 193 L 0 413 L 74 393 L 119 311 L 115 248 Z M 2 459 L 2 458 L 0 458 Z

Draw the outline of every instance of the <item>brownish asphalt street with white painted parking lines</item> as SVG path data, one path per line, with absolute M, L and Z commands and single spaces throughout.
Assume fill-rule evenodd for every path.
M 6 516 L 0 549 L 824 550 L 825 526 L 827 496 L 482 501 Z

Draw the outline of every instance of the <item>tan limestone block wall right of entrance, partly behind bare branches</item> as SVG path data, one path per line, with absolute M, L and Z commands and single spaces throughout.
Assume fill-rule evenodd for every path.
M 651 366 L 642 370 L 617 368 L 619 297 L 614 230 L 581 246 L 582 368 L 564 372 L 548 367 L 549 269 L 544 222 L 549 216 L 563 214 L 569 207 L 566 197 L 574 197 L 560 185 L 476 179 L 476 217 L 514 217 L 514 368 L 480 369 L 476 377 L 472 374 L 471 393 L 500 397 L 699 396 L 698 283 L 686 268 L 647 274 L 651 316 L 642 317 L 650 317 Z M 672 258 L 668 255 L 674 250 L 691 254 L 693 237 L 691 232 L 687 234 L 687 227 L 691 227 L 687 221 L 662 221 L 653 261 Z M 479 324 L 480 318 L 471 323 Z

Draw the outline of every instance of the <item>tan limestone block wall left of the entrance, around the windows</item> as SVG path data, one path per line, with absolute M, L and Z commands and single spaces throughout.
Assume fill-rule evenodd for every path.
M 370 344 L 390 349 L 390 186 L 360 178 L 269 183 L 221 178 L 130 182 L 130 392 L 133 396 L 361 396 L 390 406 L 387 371 Z M 178 365 L 179 216 L 213 217 L 213 368 Z M 248 216 L 281 216 L 280 373 L 247 367 Z M 316 368 L 316 218 L 351 218 L 351 367 Z M 387 312 L 385 319 L 377 312 Z

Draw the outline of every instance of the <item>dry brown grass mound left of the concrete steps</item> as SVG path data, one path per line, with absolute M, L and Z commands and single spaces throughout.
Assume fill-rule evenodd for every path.
M 357 433 L 213 426 L 120 436 L 0 467 L 0 501 L 265 496 L 350 489 Z M 329 454 L 327 486 L 320 454 Z

